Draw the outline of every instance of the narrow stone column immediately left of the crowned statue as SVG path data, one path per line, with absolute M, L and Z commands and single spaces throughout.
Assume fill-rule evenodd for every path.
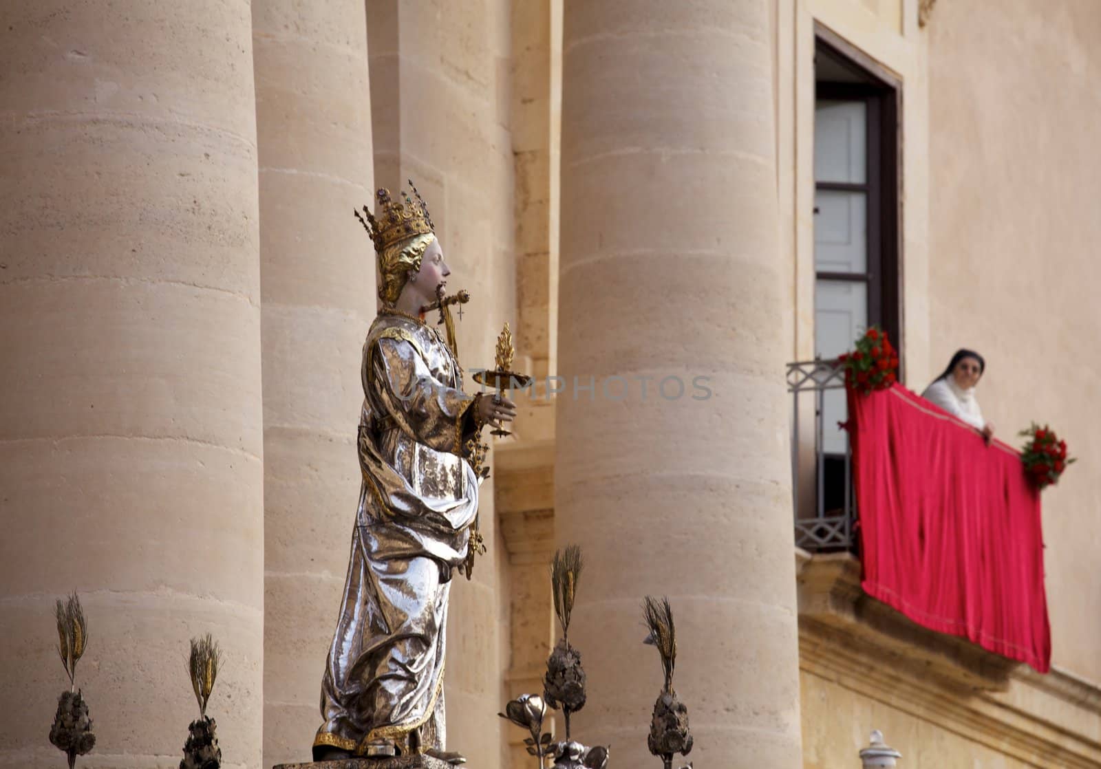
M 308 760 L 348 568 L 374 250 L 362 0 L 255 0 L 264 381 L 264 766 Z

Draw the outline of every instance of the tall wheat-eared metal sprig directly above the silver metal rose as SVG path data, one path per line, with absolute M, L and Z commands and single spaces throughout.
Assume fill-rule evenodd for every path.
M 585 668 L 581 653 L 569 644 L 569 619 L 577 598 L 577 583 L 585 562 L 581 548 L 570 545 L 558 550 L 550 563 L 550 590 L 554 594 L 554 613 L 562 625 L 562 638 L 547 658 L 547 672 L 543 679 L 543 696 L 555 710 L 562 710 L 566 721 L 566 740 L 570 738 L 569 717 L 585 707 Z

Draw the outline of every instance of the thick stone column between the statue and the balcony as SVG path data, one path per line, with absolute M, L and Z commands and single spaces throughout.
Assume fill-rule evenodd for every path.
M 565 9 L 555 525 L 587 554 L 577 736 L 620 766 L 657 760 L 645 593 L 673 604 L 696 765 L 802 766 L 768 19 Z

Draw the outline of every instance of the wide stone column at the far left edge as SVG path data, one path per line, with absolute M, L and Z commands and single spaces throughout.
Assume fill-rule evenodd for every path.
M 85 767 L 174 766 L 188 638 L 225 666 L 225 767 L 261 760 L 262 422 L 248 3 L 11 0 L 0 11 L 0 767 L 68 682 Z

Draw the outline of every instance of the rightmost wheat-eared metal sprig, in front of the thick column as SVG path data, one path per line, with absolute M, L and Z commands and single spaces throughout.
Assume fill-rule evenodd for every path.
M 665 769 L 673 769 L 673 756 L 687 756 L 691 751 L 691 734 L 688 730 L 688 708 L 677 699 L 673 689 L 673 672 L 677 661 L 677 629 L 673 624 L 673 607 L 668 598 L 658 601 L 647 595 L 643 601 L 643 615 L 650 635 L 643 644 L 657 647 L 662 658 L 665 681 L 662 693 L 654 703 L 654 715 L 650 723 L 646 745 L 650 752 L 662 759 Z M 688 765 L 691 767 L 691 763 Z

